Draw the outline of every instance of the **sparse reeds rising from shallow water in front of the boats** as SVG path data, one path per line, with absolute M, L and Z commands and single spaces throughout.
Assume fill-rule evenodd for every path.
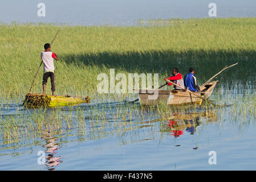
M 214 96 L 217 98 L 218 96 Z M 100 140 L 104 137 L 119 136 L 134 137 L 147 133 L 154 136 L 156 132 L 168 132 L 166 122 L 170 119 L 206 118 L 203 125 L 214 119 L 217 125 L 225 122 L 223 118 L 229 115 L 234 125 L 249 125 L 256 115 L 256 100 L 254 96 L 227 97 L 231 105 L 213 107 L 208 103 L 202 105 L 184 106 L 140 106 L 124 102 L 91 104 L 55 109 L 26 109 L 13 111 L 13 114 L 3 114 L 0 118 L 0 143 L 13 144 L 35 140 L 40 142 L 46 133 L 58 135 L 70 133 L 79 140 Z M 17 106 L 12 106 L 17 107 Z M 11 110 L 5 106 L 3 110 Z M 212 114 L 208 114 L 212 113 Z M 204 121 L 204 119 L 201 119 Z M 15 146 L 13 146 L 15 147 Z M 19 145 L 17 145 L 19 147 Z

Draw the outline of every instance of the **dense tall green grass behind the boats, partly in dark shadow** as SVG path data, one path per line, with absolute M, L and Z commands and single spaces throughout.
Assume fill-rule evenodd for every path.
M 255 76 L 255 28 L 256 18 L 152 20 L 138 27 L 0 24 L 0 97 L 21 98 L 29 92 L 43 45 L 57 30 L 52 45 L 60 58 L 55 62 L 56 94 L 95 96 L 96 77 L 109 68 L 125 74 L 160 73 L 163 78 L 173 67 L 183 75 L 194 67 L 203 83 L 237 61 L 236 68 L 220 76 L 220 84 L 234 86 L 235 80 L 244 88 L 253 85 L 248 79 Z M 42 92 L 42 72 L 33 92 Z

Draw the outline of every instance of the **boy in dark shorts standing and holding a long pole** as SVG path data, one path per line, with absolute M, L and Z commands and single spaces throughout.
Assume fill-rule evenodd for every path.
M 54 84 L 54 59 L 58 61 L 58 57 L 54 52 L 51 52 L 51 44 L 44 44 L 45 51 L 41 52 L 41 58 L 43 61 L 43 94 L 46 93 L 46 83 L 48 77 L 51 78 L 51 91 L 52 96 L 54 96 L 55 92 L 55 84 Z

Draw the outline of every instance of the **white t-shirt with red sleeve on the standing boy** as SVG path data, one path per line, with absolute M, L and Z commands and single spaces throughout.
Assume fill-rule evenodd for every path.
M 55 54 L 51 51 L 41 52 L 41 58 L 43 60 L 43 71 L 52 72 L 54 71 L 54 58 Z

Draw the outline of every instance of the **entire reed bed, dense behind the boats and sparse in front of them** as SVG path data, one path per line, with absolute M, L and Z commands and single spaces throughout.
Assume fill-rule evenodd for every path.
M 138 27 L 0 24 L 0 144 L 10 148 L 24 141 L 38 144 L 48 132 L 70 133 L 78 140 L 143 133 L 153 138 L 155 132 L 170 130 L 166 121 L 173 115 L 208 111 L 217 115 L 218 125 L 227 114 L 240 122 L 235 124 L 247 125 L 255 121 L 256 113 L 255 28 L 256 18 L 152 20 Z M 60 33 L 52 46 L 60 58 L 55 62 L 56 94 L 90 96 L 92 104 L 25 110 L 21 104 L 40 64 L 43 44 L 57 30 Z M 128 73 L 159 73 L 161 85 L 161 78 L 170 76 L 173 67 L 182 75 L 194 67 L 202 84 L 236 62 L 237 67 L 218 76 L 211 97 L 217 107 L 207 103 L 144 107 L 121 102 L 135 94 L 99 94 L 96 90 L 97 75 L 109 74 L 110 68 L 127 77 Z M 41 68 L 34 93 L 42 92 L 42 72 Z

